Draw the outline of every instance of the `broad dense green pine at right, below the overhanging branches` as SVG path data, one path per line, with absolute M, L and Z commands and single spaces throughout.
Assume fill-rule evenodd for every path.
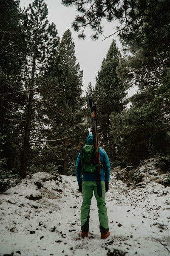
M 148 157 L 170 152 L 169 70 L 157 69 L 147 77 L 138 75 L 135 81 L 138 93 L 130 98 L 130 108 L 121 115 L 111 114 L 117 164 L 134 167 Z

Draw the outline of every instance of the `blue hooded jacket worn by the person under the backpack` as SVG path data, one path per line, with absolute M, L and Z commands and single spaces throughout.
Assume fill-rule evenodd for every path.
M 89 134 L 87 138 L 87 144 L 92 145 L 93 144 L 93 135 Z M 104 180 L 105 182 L 109 182 L 110 178 L 110 162 L 108 155 L 104 149 L 99 147 L 99 156 L 100 156 L 100 162 L 103 165 L 103 168 L 101 170 L 101 180 Z M 76 177 L 77 177 L 77 182 L 80 183 L 80 174 L 82 171 L 82 166 L 81 166 L 81 155 L 79 153 L 77 157 L 77 162 L 76 162 Z M 95 173 L 82 173 L 82 181 L 96 181 L 96 174 Z

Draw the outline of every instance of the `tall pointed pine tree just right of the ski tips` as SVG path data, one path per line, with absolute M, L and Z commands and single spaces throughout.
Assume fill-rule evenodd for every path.
M 98 101 L 99 140 L 111 159 L 114 150 L 112 150 L 109 116 L 112 112 L 121 113 L 127 104 L 125 84 L 116 73 L 120 59 L 120 51 L 113 40 L 106 59 L 102 62 L 101 71 L 96 77 L 95 86 L 96 100 Z

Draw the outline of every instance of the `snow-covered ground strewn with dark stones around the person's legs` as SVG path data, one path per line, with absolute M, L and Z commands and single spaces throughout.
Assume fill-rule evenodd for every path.
M 37 173 L 8 189 L 0 195 L 0 256 L 170 255 L 170 187 L 151 181 L 132 189 L 115 174 L 106 193 L 106 240 L 95 197 L 89 236 L 81 238 L 76 177 Z

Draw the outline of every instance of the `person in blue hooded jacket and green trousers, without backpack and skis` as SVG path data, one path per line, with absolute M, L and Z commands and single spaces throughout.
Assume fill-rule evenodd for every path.
M 93 145 L 93 135 L 89 134 L 87 138 L 87 144 Z M 86 171 L 82 172 L 81 165 L 81 154 L 79 153 L 76 162 L 76 177 L 79 185 L 79 191 L 82 192 L 82 207 L 81 207 L 81 235 L 82 237 L 88 237 L 89 231 L 89 218 L 90 218 L 90 206 L 91 199 L 94 195 L 97 201 L 98 213 L 99 213 L 99 223 L 100 223 L 100 233 L 101 238 L 106 239 L 109 235 L 108 227 L 108 215 L 107 207 L 105 203 L 105 192 L 109 189 L 109 178 L 110 178 L 110 162 L 107 153 L 101 147 L 99 147 L 100 162 L 102 164 L 101 170 L 101 183 L 102 183 L 102 197 L 97 194 L 97 184 L 96 184 L 96 173 L 89 173 Z M 82 173 L 82 181 L 81 181 Z

